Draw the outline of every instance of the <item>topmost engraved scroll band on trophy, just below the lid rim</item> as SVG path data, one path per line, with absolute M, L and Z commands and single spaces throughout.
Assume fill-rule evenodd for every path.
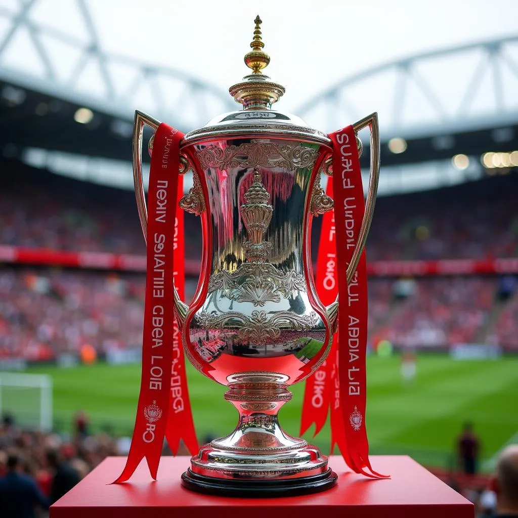
M 228 170 L 233 167 L 279 167 L 293 170 L 297 167 L 312 169 L 318 151 L 305 146 L 291 146 L 252 139 L 240 146 L 208 146 L 196 153 L 203 169 L 218 167 Z

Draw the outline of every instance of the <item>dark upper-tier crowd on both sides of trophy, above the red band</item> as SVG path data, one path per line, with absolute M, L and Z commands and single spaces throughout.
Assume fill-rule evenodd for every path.
M 135 196 L 12 162 L 0 192 L 0 244 L 144 254 Z M 370 261 L 518 255 L 518 175 L 381 197 L 367 241 Z M 459 200 L 462 199 L 462 203 Z M 313 223 L 318 250 L 322 218 Z M 199 221 L 185 216 L 186 256 L 201 253 Z

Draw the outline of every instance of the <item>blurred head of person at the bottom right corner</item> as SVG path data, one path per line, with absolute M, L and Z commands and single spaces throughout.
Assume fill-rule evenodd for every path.
M 502 451 L 490 485 L 496 494 L 496 516 L 518 518 L 518 444 Z

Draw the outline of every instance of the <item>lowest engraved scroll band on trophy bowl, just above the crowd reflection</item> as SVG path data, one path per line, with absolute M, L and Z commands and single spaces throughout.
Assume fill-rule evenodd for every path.
M 239 338 L 255 345 L 264 345 L 279 338 L 282 330 L 307 331 L 318 318 L 314 311 L 298 315 L 292 311 L 277 311 L 268 316 L 266 311 L 252 311 L 245 315 L 237 311 L 209 314 L 202 311 L 197 315 L 198 325 L 204 329 L 235 328 Z

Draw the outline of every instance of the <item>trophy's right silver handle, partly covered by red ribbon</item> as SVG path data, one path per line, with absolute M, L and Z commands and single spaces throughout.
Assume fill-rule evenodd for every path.
M 378 192 L 378 179 L 380 176 L 380 132 L 378 127 L 378 113 L 371 113 L 361 121 L 353 124 L 354 132 L 357 134 L 365 127 L 369 127 L 370 131 L 370 176 L 369 176 L 369 190 L 367 191 L 367 201 L 365 203 L 365 215 L 362 221 L 362 226 L 359 229 L 358 242 L 353 251 L 351 262 L 347 268 L 347 282 L 351 282 L 352 276 L 362 252 L 365 248 L 367 235 L 369 233 L 370 224 L 372 222 L 372 215 L 374 213 L 374 206 L 376 204 L 376 194 Z M 327 308 L 327 316 L 329 323 L 333 330 L 336 330 L 336 323 L 338 318 L 338 296 L 334 303 Z

